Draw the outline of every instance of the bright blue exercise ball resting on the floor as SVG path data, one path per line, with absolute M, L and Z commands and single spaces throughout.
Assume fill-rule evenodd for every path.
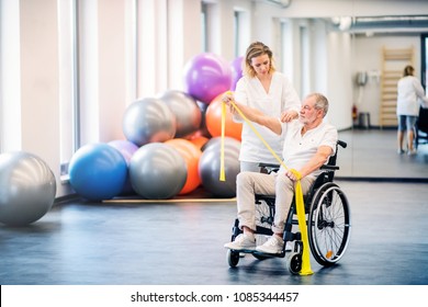
M 112 146 L 88 144 L 72 155 L 68 173 L 71 187 L 82 197 L 110 200 L 122 192 L 127 164 L 122 154 Z

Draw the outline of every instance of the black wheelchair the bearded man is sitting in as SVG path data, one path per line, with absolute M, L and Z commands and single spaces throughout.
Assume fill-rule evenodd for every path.
M 338 140 L 336 154 L 322 167 L 323 172 L 317 177 L 308 193 L 304 195 L 305 220 L 307 237 L 313 258 L 323 266 L 331 266 L 345 254 L 351 232 L 351 216 L 348 200 L 340 187 L 333 182 L 336 166 L 338 146 L 346 148 L 347 144 Z M 266 172 L 278 171 L 278 164 L 260 163 Z M 256 243 L 260 245 L 272 236 L 271 230 L 274 216 L 275 197 L 272 195 L 256 194 Z M 268 258 L 285 258 L 286 266 L 292 274 L 299 274 L 302 270 L 303 241 L 299 231 L 299 221 L 295 201 L 293 201 L 283 232 L 284 246 L 281 253 L 267 254 L 256 250 L 227 250 L 227 261 L 230 268 L 238 265 L 239 259 L 246 253 L 252 254 L 258 260 Z M 295 226 L 297 225 L 297 226 Z M 241 234 L 239 221 L 236 218 L 232 229 L 232 241 Z M 294 227 L 293 227 L 294 226 Z M 293 230 L 296 229 L 296 230 Z M 294 245 L 292 243 L 294 241 Z M 286 249 L 286 242 L 292 243 L 292 249 Z

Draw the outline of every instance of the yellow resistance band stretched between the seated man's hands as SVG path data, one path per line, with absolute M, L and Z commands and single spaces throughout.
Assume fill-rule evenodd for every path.
M 225 181 L 224 175 L 224 126 L 225 126 L 225 117 L 226 117 L 226 104 L 222 102 L 222 152 L 221 152 L 221 175 L 219 180 Z M 269 151 L 272 154 L 272 156 L 278 160 L 278 162 L 285 169 L 291 172 L 297 178 L 297 181 L 295 183 L 295 203 L 296 203 L 296 211 L 297 211 L 297 221 L 299 221 L 299 228 L 301 229 L 302 234 L 302 241 L 303 241 L 303 255 L 302 255 L 302 270 L 300 272 L 301 275 L 311 275 L 314 274 L 314 272 L 311 269 L 311 258 L 309 258 L 309 243 L 307 238 L 307 226 L 306 226 L 306 218 L 305 218 L 305 204 L 303 202 L 303 192 L 302 192 L 302 184 L 301 179 L 302 174 L 294 170 L 289 169 L 283 160 L 278 157 L 277 152 L 273 151 L 273 149 L 269 146 L 269 144 L 263 139 L 263 137 L 260 135 L 260 133 L 256 129 L 256 127 L 251 124 L 250 121 L 244 115 L 244 113 L 238 109 L 238 106 L 235 104 L 234 101 L 230 101 L 230 104 L 235 110 L 239 113 L 239 115 L 244 118 L 244 121 L 249 125 L 251 130 L 257 135 L 257 137 L 263 143 L 266 148 L 269 149 Z M 223 175 L 223 177 L 222 177 Z M 223 180 L 222 180 L 223 178 Z

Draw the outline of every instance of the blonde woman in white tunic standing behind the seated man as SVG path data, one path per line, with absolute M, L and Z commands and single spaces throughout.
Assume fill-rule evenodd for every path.
M 278 117 L 284 123 L 299 117 L 301 100 L 290 80 L 275 70 L 272 50 L 263 43 L 255 42 L 248 46 L 243 60 L 243 75 L 234 93 L 237 102 L 259 110 L 268 116 Z M 226 93 L 223 98 L 228 100 L 230 96 L 230 93 Z M 235 122 L 243 123 L 240 171 L 260 172 L 260 162 L 278 164 L 273 155 L 240 115 L 233 112 L 233 116 Z M 281 157 L 282 137 L 264 126 L 258 124 L 254 126 Z

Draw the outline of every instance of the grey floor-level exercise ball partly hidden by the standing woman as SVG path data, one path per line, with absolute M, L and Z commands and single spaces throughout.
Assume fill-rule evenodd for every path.
M 240 141 L 224 138 L 224 171 L 225 181 L 219 180 L 221 174 L 222 138 L 212 138 L 205 144 L 199 161 L 199 173 L 203 187 L 216 197 L 236 196 L 236 177 L 240 171 L 239 150 Z

